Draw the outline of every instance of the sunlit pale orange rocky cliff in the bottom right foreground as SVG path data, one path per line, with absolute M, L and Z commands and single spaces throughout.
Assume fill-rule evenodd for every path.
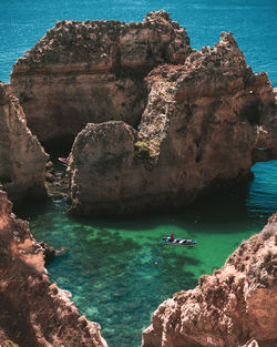
M 224 267 L 161 304 L 142 347 L 276 346 L 276 268 L 277 215 Z

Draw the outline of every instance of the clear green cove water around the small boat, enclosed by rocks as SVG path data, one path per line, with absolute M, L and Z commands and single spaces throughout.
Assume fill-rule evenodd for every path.
M 258 163 L 253 172 L 249 187 L 214 194 L 177 214 L 76 218 L 64 200 L 25 205 L 17 214 L 29 220 L 38 241 L 68 248 L 48 267 L 50 278 L 72 293 L 81 314 L 101 324 L 109 346 L 137 347 L 158 304 L 223 266 L 277 211 L 277 161 Z M 171 231 L 197 246 L 162 244 Z

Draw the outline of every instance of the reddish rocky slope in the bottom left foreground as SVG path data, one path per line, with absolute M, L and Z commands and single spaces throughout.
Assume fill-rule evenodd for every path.
M 50 283 L 42 247 L 11 210 L 0 191 L 1 346 L 106 347 L 99 324 L 80 316 L 70 293 Z

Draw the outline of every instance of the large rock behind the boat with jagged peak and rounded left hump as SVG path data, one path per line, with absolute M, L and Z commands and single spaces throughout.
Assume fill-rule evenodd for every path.
M 277 157 L 271 84 L 265 73 L 254 74 L 232 33 L 145 80 L 140 132 L 106 122 L 78 135 L 69 161 L 72 211 L 117 214 L 186 204 L 246 180 L 256 160 Z

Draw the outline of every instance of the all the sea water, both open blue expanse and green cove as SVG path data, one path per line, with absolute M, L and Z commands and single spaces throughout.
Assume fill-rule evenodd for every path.
M 277 86 L 276 0 L 0 0 L 0 81 L 9 82 L 12 64 L 58 20 L 142 21 L 161 9 L 187 29 L 195 49 L 232 31 L 247 63 Z M 27 201 L 16 213 L 38 241 L 68 249 L 48 267 L 50 278 L 72 293 L 82 315 L 100 323 L 109 346 L 138 347 L 158 304 L 223 266 L 277 211 L 277 161 L 252 171 L 252 182 L 167 214 L 80 218 L 68 213 L 64 200 L 53 198 Z M 197 245 L 162 244 L 171 231 Z

